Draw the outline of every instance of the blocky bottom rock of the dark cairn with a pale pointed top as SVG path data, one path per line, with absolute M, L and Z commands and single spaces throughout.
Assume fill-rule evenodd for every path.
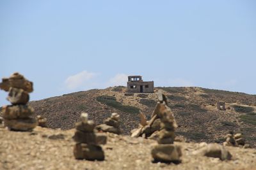
M 74 146 L 76 159 L 104 160 L 104 152 L 100 146 L 77 143 Z

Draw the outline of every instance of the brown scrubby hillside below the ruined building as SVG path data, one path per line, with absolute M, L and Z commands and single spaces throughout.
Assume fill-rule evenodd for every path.
M 139 111 L 149 119 L 157 101 L 157 91 L 168 96 L 177 124 L 177 135 L 186 141 L 222 143 L 228 131 L 242 132 L 246 142 L 256 146 L 256 96 L 199 87 L 159 87 L 154 94 L 125 96 L 125 87 L 93 89 L 31 101 L 36 115 L 48 119 L 51 128 L 72 129 L 82 111 L 96 124 L 113 112 L 120 114 L 123 134 L 138 127 Z M 226 111 L 217 110 L 217 101 Z

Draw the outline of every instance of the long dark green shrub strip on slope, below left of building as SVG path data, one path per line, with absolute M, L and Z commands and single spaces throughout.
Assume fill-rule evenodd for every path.
M 140 113 L 140 109 L 134 106 L 125 106 L 122 103 L 116 101 L 116 97 L 113 96 L 99 96 L 97 97 L 97 101 L 102 104 L 107 104 L 117 110 L 124 111 L 126 113 Z

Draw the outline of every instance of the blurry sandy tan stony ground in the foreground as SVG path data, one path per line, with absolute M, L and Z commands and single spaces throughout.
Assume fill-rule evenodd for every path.
M 152 162 L 150 150 L 156 141 L 108 134 L 102 145 L 106 160 L 76 160 L 73 155 L 74 129 L 61 131 L 36 127 L 33 132 L 0 128 L 0 169 L 256 169 L 256 150 L 227 147 L 232 160 L 194 155 L 204 143 L 179 143 L 180 164 Z

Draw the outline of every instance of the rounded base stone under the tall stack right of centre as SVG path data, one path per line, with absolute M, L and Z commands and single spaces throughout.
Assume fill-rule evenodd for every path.
M 156 145 L 152 149 L 151 154 L 157 162 L 179 162 L 182 156 L 180 146 L 173 144 Z

